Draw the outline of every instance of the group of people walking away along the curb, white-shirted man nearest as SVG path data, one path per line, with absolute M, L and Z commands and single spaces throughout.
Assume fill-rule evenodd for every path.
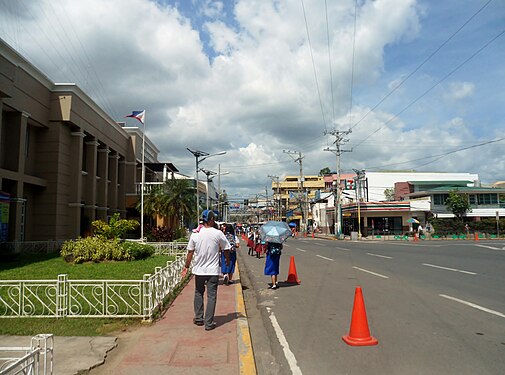
M 266 253 L 264 273 L 271 277 L 272 283 L 269 288 L 275 290 L 279 288 L 277 276 L 279 275 L 282 244 L 273 242 L 261 244 L 259 231 L 257 231 L 254 241 L 256 239 L 259 240 L 262 247 L 259 252 L 255 251 L 258 258 L 261 257 L 262 252 Z M 205 326 L 206 331 L 213 330 L 217 326 L 214 315 L 219 276 L 223 275 L 223 284 L 225 285 L 233 282 L 239 246 L 240 241 L 235 235 L 233 225 L 225 224 L 218 228 L 214 212 L 212 210 L 202 212 L 201 224 L 193 230 L 189 238 L 183 272 L 187 272 L 193 264 L 192 273 L 195 276 L 193 323 L 197 326 Z M 204 310 L 205 289 L 207 289 L 207 308 Z

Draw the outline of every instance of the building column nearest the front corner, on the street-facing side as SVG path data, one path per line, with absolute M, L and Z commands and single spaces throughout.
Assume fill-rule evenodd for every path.
M 70 160 L 72 168 L 70 171 L 70 197 L 69 197 L 69 235 L 71 238 L 77 238 L 81 235 L 81 208 L 83 198 L 83 176 L 82 176 L 82 158 L 84 149 L 84 137 L 82 131 L 72 132 L 72 146 Z

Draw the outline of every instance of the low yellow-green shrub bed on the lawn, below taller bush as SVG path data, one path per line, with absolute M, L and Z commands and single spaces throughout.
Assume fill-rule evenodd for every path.
M 133 259 L 130 253 L 121 247 L 119 240 L 106 240 L 103 237 L 86 237 L 75 241 L 66 241 L 61 248 L 60 255 L 65 259 L 72 259 L 73 263 Z

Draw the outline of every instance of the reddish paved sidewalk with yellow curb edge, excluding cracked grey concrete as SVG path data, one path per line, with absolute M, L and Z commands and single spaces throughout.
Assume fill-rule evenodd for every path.
M 256 374 L 238 267 L 218 287 L 216 329 L 193 324 L 193 296 L 192 278 L 159 321 L 120 338 L 90 374 Z

